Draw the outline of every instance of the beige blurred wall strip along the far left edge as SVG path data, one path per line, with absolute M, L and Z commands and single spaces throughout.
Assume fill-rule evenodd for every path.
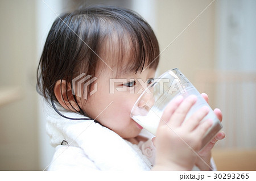
M 1 0 L 0 22 L 0 89 L 19 95 L 0 107 L 0 170 L 38 170 L 35 2 Z

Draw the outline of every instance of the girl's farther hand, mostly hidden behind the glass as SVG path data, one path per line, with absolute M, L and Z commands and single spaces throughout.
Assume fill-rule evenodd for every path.
M 205 94 L 205 93 L 203 93 L 201 95 L 203 96 L 205 101 L 207 103 L 209 103 L 208 95 Z M 221 111 L 216 108 L 213 112 L 216 114 L 218 120 L 222 121 L 222 113 L 221 113 Z M 218 132 L 217 135 L 214 138 L 212 138 L 212 140 L 207 145 L 205 145 L 204 149 L 199 151 L 198 154 L 199 154 L 199 156 L 201 158 L 197 157 L 197 159 L 196 159 L 196 166 L 199 167 L 200 170 L 210 170 L 210 168 L 209 168 L 209 166 L 210 166 L 210 158 L 212 157 L 211 150 L 212 150 L 213 146 L 216 144 L 216 142 L 218 140 L 222 140 L 224 138 L 225 138 L 225 133 L 222 132 L 222 131 Z M 205 164 L 202 161 L 202 159 L 207 164 Z

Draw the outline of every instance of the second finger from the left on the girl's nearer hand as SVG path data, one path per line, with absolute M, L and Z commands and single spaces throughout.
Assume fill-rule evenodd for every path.
M 171 120 L 168 124 L 173 127 L 179 127 L 185 120 L 188 111 L 196 103 L 196 99 L 196 95 L 189 95 L 188 98 L 185 98 L 184 101 L 180 104 L 179 107 L 177 107 L 177 109 L 171 116 Z

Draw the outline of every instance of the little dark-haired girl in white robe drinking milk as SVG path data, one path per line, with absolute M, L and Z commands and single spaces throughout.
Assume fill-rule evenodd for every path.
M 57 18 L 38 68 L 38 90 L 56 111 L 47 120 L 56 148 L 48 170 L 214 169 L 210 150 L 225 134 L 199 151 L 212 124 L 199 123 L 209 110 L 202 108 L 181 124 L 195 96 L 168 104 L 154 145 L 131 119 L 142 89 L 138 80 L 152 83 L 158 61 L 154 32 L 133 11 L 94 6 Z M 220 110 L 214 112 L 222 120 Z

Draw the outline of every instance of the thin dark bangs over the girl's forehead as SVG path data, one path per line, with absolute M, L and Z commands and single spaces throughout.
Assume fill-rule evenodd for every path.
M 131 21 L 131 22 L 129 22 Z M 115 68 L 117 76 L 156 69 L 159 62 L 158 40 L 144 20 L 109 22 L 101 44 L 101 57 Z

